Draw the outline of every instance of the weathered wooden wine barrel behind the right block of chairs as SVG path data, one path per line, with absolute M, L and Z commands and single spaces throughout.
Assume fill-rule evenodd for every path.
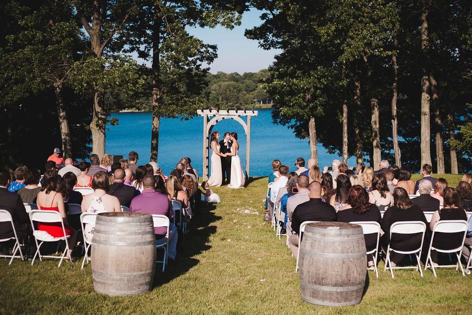
M 328 306 L 360 303 L 367 273 L 365 252 L 360 225 L 307 224 L 298 261 L 302 299 Z

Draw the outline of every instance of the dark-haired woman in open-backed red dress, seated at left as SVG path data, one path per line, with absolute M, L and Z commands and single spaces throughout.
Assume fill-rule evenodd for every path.
M 52 237 L 64 237 L 70 235 L 67 239 L 69 245 L 69 255 L 74 250 L 76 245 L 76 233 L 72 226 L 68 224 L 67 214 L 65 211 L 64 200 L 60 193 L 59 175 L 56 171 L 47 171 L 44 173 L 44 186 L 41 187 L 41 191 L 38 193 L 36 204 L 39 210 L 49 210 L 59 212 L 62 220 L 64 221 L 64 231 L 62 225 L 59 222 L 39 222 L 38 230 L 45 231 Z

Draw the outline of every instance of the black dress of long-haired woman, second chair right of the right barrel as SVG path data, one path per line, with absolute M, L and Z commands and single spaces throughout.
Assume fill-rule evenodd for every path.
M 382 229 L 385 234 L 381 237 L 382 248 L 386 252 L 388 244 L 390 248 L 398 251 L 413 251 L 421 245 L 421 233 L 416 234 L 392 234 L 390 239 L 390 227 L 393 223 L 398 221 L 422 221 L 428 226 L 428 221 L 424 216 L 423 211 L 416 205 L 413 205 L 411 208 L 402 210 L 397 207 L 388 208 L 383 214 L 382 219 Z M 398 264 L 402 258 L 403 254 L 396 252 L 390 253 L 390 260 L 395 264 Z

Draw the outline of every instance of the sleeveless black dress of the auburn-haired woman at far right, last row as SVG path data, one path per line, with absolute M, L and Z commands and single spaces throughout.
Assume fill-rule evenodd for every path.
M 467 215 L 462 208 L 451 208 L 439 210 L 439 221 L 447 220 L 464 220 L 467 221 Z M 458 248 L 462 244 L 464 232 L 442 233 L 436 232 L 433 239 L 433 247 L 440 250 L 452 250 Z

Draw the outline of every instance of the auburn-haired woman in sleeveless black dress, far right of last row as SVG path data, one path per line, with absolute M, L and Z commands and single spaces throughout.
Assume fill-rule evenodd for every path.
M 424 182 L 420 183 L 420 189 L 421 189 L 421 184 L 423 183 Z M 442 208 L 441 210 L 435 211 L 435 213 L 433 214 L 433 217 L 431 218 L 431 222 L 429 223 L 429 228 L 431 229 L 431 231 L 433 231 L 434 225 L 438 221 L 447 221 L 447 220 L 467 221 L 467 214 L 464 211 L 464 209 L 461 207 L 461 197 L 459 195 L 459 192 L 454 188 L 446 188 L 444 190 L 444 208 Z M 439 250 L 453 250 L 462 245 L 463 237 L 464 237 L 464 232 L 457 232 L 457 233 L 437 232 L 434 235 L 433 247 Z M 431 251 L 431 260 L 433 260 L 434 266 L 438 265 L 438 252 Z

